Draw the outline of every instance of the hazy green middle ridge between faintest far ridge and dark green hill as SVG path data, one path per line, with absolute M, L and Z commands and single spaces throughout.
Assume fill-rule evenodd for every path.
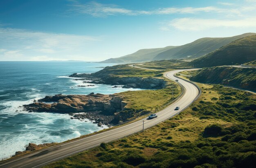
M 229 44 L 231 41 L 247 37 L 250 35 L 256 35 L 256 33 L 245 33 L 233 37 L 222 37 L 222 38 L 201 38 L 193 41 L 192 43 L 171 48 L 164 52 L 159 53 L 153 60 L 163 59 L 184 59 L 184 58 L 198 58 L 206 55 L 218 48 Z

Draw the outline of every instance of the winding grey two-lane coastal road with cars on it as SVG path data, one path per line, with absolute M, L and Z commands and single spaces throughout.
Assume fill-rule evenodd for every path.
M 178 78 L 176 78 L 174 74 L 181 71 L 183 70 L 166 72 L 164 76 L 167 79 L 175 81 L 175 79 Z M 188 107 L 193 102 L 193 100 L 195 100 L 195 98 L 198 97 L 200 91 L 195 85 L 184 81 L 183 79 L 178 80 L 178 83 L 183 87 L 184 94 L 173 104 L 159 111 L 157 113 L 157 118 L 152 120 L 147 120 L 147 118 L 142 119 L 145 120 L 144 129 L 153 127 L 159 122 L 162 122 L 168 118 L 171 118 L 175 114 L 180 113 L 186 107 Z M 180 107 L 180 109 L 177 111 L 174 110 L 176 106 Z M 102 142 L 110 142 L 142 131 L 142 120 L 138 120 L 122 127 L 103 131 L 88 137 L 83 137 L 71 142 L 59 144 L 34 153 L 4 161 L 0 163 L 0 168 L 38 168 L 44 166 L 53 161 L 57 161 L 59 159 L 74 155 L 95 146 L 99 146 Z

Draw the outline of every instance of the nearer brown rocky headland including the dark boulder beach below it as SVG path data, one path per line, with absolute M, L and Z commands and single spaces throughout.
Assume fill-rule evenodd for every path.
M 88 95 L 45 96 L 29 105 L 23 105 L 26 111 L 68 113 L 71 119 L 88 119 L 99 127 L 119 123 L 119 112 L 127 103 L 116 95 L 90 93 Z M 85 120 L 86 122 L 86 120 Z

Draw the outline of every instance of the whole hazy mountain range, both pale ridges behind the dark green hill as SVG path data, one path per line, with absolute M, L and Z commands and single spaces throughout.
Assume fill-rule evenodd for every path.
M 256 33 L 245 33 L 234 37 L 202 38 L 183 46 L 168 46 L 164 48 L 141 49 L 130 55 L 119 58 L 110 58 L 101 63 L 135 63 L 164 59 L 197 58 L 229 44 L 231 41 L 256 35 Z

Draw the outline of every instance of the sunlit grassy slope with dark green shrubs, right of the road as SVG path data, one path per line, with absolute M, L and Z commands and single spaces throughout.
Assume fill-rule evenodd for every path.
M 171 120 L 45 168 L 254 168 L 255 104 L 255 95 L 207 85 Z

